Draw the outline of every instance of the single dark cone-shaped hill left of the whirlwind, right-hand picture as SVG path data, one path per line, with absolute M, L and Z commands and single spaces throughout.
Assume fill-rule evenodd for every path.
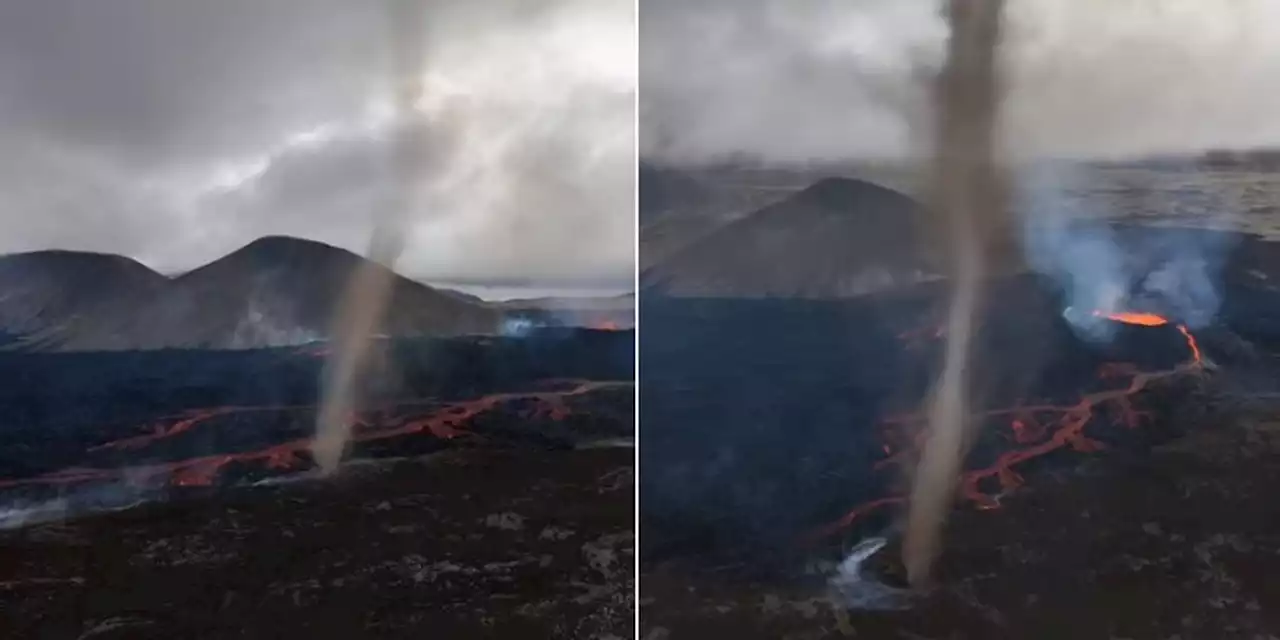
M 641 274 L 682 297 L 838 298 L 932 278 L 922 207 L 896 191 L 827 178 L 684 246 Z

